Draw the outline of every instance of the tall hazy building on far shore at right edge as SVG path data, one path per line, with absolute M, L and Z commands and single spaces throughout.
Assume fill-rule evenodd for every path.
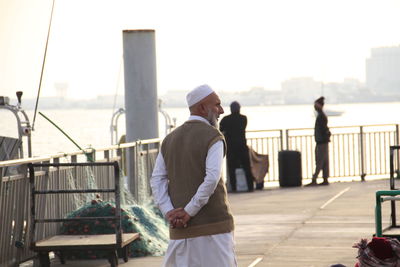
M 366 60 L 366 86 L 379 95 L 400 94 L 400 46 L 371 49 Z

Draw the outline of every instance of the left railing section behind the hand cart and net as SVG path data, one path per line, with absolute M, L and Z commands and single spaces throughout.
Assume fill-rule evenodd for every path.
M 2 223 L 0 224 L 0 266 L 18 266 L 35 255 L 29 249 L 30 240 L 30 190 L 29 163 L 70 163 L 87 162 L 92 159 L 96 162 L 118 161 L 124 170 L 128 168 L 128 156 L 131 156 L 133 166 L 130 168 L 132 181 L 128 185 L 137 203 L 145 201 L 150 195 L 149 180 L 158 154 L 160 139 L 125 143 L 97 149 L 87 149 L 68 154 L 55 154 L 40 158 L 28 158 L 0 162 L 0 210 Z M 112 157 L 111 155 L 116 155 Z M 2 176 L 3 168 L 14 168 L 14 174 Z M 94 184 L 99 188 L 112 186 L 110 168 L 104 166 L 87 169 L 76 167 L 42 168 L 35 171 L 37 187 L 41 190 L 70 190 L 74 188 L 88 188 L 88 176 L 93 176 Z M 128 172 L 129 172 L 128 170 Z M 111 195 L 110 195 L 111 196 Z M 112 200 L 108 193 L 101 195 L 103 200 Z M 38 197 L 37 216 L 40 218 L 64 217 L 76 210 L 89 199 L 79 194 L 46 194 Z M 55 204 L 58 203 L 58 204 Z M 36 237 L 43 239 L 58 234 L 59 223 L 43 223 L 36 229 Z

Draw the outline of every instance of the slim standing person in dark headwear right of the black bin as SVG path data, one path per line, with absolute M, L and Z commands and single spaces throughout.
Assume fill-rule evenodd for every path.
M 328 185 L 329 181 L 329 142 L 331 132 L 328 128 L 328 117 L 323 111 L 325 98 L 321 96 L 314 101 L 314 109 L 318 113 L 315 120 L 314 139 L 315 139 L 315 172 L 312 181 L 308 185 L 317 185 L 317 178 L 322 170 L 324 181 L 320 185 Z

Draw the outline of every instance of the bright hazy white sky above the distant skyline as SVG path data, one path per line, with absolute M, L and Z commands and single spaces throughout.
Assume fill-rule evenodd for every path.
M 37 94 L 51 0 L 0 0 L 0 95 Z M 159 94 L 280 89 L 291 77 L 365 80 L 400 44 L 400 0 L 56 0 L 42 95 L 123 94 L 122 30 L 155 29 Z

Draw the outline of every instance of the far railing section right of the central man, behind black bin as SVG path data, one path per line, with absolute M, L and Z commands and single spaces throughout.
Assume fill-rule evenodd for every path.
M 399 125 L 331 127 L 329 143 L 330 177 L 388 176 L 389 147 L 399 144 Z M 248 131 L 247 144 L 260 154 L 268 154 L 270 168 L 266 181 L 278 181 L 278 153 L 301 153 L 302 177 L 311 178 L 315 169 L 313 128 Z

